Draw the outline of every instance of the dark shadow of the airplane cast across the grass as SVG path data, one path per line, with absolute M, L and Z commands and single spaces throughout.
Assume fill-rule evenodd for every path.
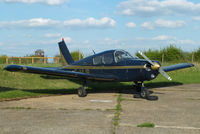
M 182 85 L 180 82 L 154 82 L 147 83 L 145 86 L 148 89 L 151 88 L 160 88 L 160 87 L 169 87 L 169 86 L 177 86 Z M 11 90 L 22 90 L 25 92 L 32 93 L 40 93 L 40 94 L 50 94 L 50 95 L 66 95 L 66 94 L 77 94 L 77 89 L 75 88 L 61 88 L 61 89 L 16 89 L 10 87 L 2 87 L 0 86 L 0 93 L 7 92 Z M 134 85 L 120 83 L 120 82 L 110 82 L 110 83 L 98 83 L 98 82 L 89 82 L 88 93 L 96 94 L 96 93 L 122 93 L 122 94 L 138 94 L 135 90 Z M 153 93 L 153 91 L 150 91 Z M 158 93 L 159 94 L 159 93 Z

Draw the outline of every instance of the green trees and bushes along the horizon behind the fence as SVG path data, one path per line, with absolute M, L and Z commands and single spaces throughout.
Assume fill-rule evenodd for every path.
M 200 47 L 193 52 L 186 52 L 176 47 L 175 45 L 169 45 L 160 50 L 148 49 L 146 51 L 143 51 L 143 53 L 151 60 L 158 60 L 160 62 L 200 62 Z M 83 53 L 80 51 L 73 51 L 71 52 L 71 55 L 75 61 L 84 57 Z M 139 53 L 136 53 L 136 56 L 138 56 L 139 58 L 143 58 Z M 35 57 L 35 55 L 26 55 L 24 57 Z M 60 57 L 60 55 L 56 55 L 54 57 Z M 5 64 L 6 58 L 6 55 L 0 56 L 0 64 Z M 18 63 L 18 59 L 11 59 L 12 63 Z M 30 64 L 30 61 L 31 59 L 24 59 L 22 60 L 22 64 Z M 35 59 L 35 63 L 40 62 L 43 63 L 41 59 Z M 59 61 L 59 63 L 61 63 L 61 61 Z

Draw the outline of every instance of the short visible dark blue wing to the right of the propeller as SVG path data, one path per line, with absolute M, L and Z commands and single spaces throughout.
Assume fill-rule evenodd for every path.
M 175 64 L 175 65 L 171 65 L 171 66 L 167 66 L 167 67 L 162 67 L 162 69 L 165 72 L 169 72 L 169 71 L 174 71 L 174 70 L 193 67 L 193 66 L 194 66 L 194 64 L 181 63 L 181 64 Z

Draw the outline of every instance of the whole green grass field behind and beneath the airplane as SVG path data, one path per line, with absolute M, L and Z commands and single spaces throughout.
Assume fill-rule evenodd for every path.
M 75 94 L 80 84 L 67 79 L 44 79 L 37 74 L 13 73 L 4 71 L 6 65 L 0 65 L 0 100 L 12 98 L 26 98 L 47 95 Z M 55 67 L 55 64 L 34 64 L 32 66 Z M 168 81 L 163 76 L 158 76 L 155 80 L 145 82 L 149 88 L 200 83 L 200 65 L 196 67 L 173 71 L 168 73 L 172 81 Z M 89 82 L 88 92 L 117 92 L 121 89 L 132 89 L 132 82 L 123 83 L 101 83 Z

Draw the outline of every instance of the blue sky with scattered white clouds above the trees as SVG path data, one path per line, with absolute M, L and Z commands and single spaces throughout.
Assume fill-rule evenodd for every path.
M 0 55 L 200 47 L 197 0 L 0 0 Z

